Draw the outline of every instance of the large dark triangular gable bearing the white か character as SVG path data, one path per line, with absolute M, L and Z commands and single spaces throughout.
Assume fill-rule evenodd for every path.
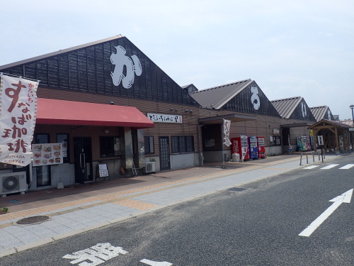
M 39 79 L 39 87 L 197 105 L 171 77 L 120 35 L 4 65 L 0 71 Z

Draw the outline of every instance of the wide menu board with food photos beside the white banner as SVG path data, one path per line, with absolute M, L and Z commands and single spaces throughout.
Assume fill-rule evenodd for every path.
M 33 144 L 33 166 L 63 163 L 62 143 Z

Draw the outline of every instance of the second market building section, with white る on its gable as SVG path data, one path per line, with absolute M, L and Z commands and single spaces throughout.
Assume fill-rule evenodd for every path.
M 265 154 L 282 154 L 282 119 L 254 80 L 245 79 L 200 91 L 191 85 L 185 87 L 190 96 L 203 110 L 213 113 L 213 116 L 217 115 L 207 118 L 201 113 L 199 118 L 205 162 L 221 161 L 222 153 L 224 160 L 232 157 L 232 147 L 223 147 L 222 119 L 231 121 L 230 139 L 240 136 L 263 137 Z

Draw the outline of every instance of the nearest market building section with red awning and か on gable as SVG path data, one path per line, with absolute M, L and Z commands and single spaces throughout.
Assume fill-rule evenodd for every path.
M 118 178 L 200 164 L 200 106 L 121 35 L 0 72 L 40 81 L 33 162 L 0 165 L 6 176 L 25 172 L 29 189 L 92 182 L 101 172 Z M 63 149 L 59 164 L 50 157 L 56 143 Z

